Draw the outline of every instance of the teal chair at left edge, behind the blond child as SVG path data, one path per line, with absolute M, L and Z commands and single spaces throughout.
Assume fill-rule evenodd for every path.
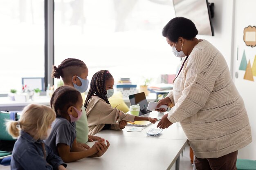
M 13 139 L 11 137 L 11 135 L 9 135 L 9 133 L 6 130 L 6 126 L 5 126 L 5 121 L 6 120 L 18 120 L 19 119 L 19 115 L 17 115 L 17 112 L 8 112 L 8 111 L 0 111 L 0 141 L 5 141 L 8 143 L 15 141 L 15 139 Z M 9 157 L 9 158 L 8 158 Z M 11 157 L 11 152 L 8 152 L 6 150 L 0 150 L 0 164 L 2 165 L 9 165 L 10 163 L 10 157 Z

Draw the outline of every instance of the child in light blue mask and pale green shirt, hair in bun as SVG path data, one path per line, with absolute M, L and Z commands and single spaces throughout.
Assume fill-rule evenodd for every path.
M 85 100 L 84 92 L 88 88 L 89 81 L 87 79 L 88 68 L 85 63 L 75 58 L 67 58 L 61 62 L 61 64 L 52 68 L 52 77 L 60 78 L 64 82 L 64 86 L 70 86 L 76 88 Z M 84 103 L 84 101 L 83 101 Z M 85 114 L 85 108 L 82 108 L 83 114 L 81 118 L 76 121 L 76 139 L 77 144 L 83 148 L 90 148 L 85 145 L 87 141 L 97 141 L 100 137 L 88 135 L 88 123 Z

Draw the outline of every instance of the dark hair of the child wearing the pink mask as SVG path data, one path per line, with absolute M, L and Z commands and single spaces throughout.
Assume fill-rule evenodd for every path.
M 75 88 L 60 86 L 52 94 L 50 106 L 55 111 L 56 116 L 64 117 L 68 114 L 67 109 L 78 102 L 79 96 L 81 97 L 81 93 Z

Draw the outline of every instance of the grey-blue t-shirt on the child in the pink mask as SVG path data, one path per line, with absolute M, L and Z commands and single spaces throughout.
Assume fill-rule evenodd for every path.
M 69 122 L 63 117 L 56 117 L 56 120 L 52 123 L 52 132 L 45 140 L 45 144 L 52 148 L 54 154 L 58 155 L 58 144 L 67 144 L 71 149 L 75 139 L 76 123 Z

